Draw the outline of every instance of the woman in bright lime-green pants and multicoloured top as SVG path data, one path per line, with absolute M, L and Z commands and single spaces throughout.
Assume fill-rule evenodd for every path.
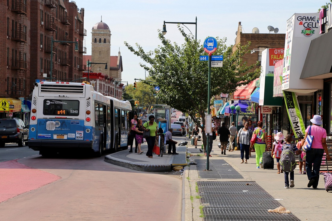
M 257 122 L 257 128 L 254 130 L 253 134 L 256 134 L 256 141 L 255 144 L 251 144 L 251 148 L 254 146 L 255 147 L 255 152 L 256 152 L 256 166 L 257 169 L 259 167 L 263 168 L 262 164 L 262 159 L 263 159 L 263 153 L 265 152 L 265 147 L 268 143 L 267 139 L 267 133 L 266 130 L 262 128 L 263 126 L 263 121 L 258 121 Z

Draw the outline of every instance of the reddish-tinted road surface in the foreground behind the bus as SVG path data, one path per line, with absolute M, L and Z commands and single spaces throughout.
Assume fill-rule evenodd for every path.
M 105 155 L 37 154 L 0 148 L 0 195 L 11 194 L 0 203 L 1 220 L 181 220 L 179 176 L 130 170 Z

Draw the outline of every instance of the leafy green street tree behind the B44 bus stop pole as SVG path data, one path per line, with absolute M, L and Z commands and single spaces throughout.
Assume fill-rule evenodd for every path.
M 157 99 L 171 107 L 188 112 L 193 121 L 204 131 L 205 114 L 207 113 L 207 84 L 208 62 L 200 61 L 200 55 L 207 55 L 200 40 L 195 40 L 192 35 L 187 35 L 178 25 L 184 37 L 182 45 L 174 42 L 158 31 L 161 41 L 155 50 L 145 52 L 136 43 L 137 50 L 124 42 L 126 47 L 147 63 L 140 63 L 151 79 L 156 83 L 145 82 L 152 86 L 159 86 Z M 236 87 L 247 85 L 259 76 L 259 69 L 252 69 L 255 64 L 243 62 L 242 57 L 248 53 L 249 44 L 226 46 L 226 38 L 216 37 L 218 42 L 216 55 L 223 55 L 223 67 L 211 68 L 211 96 L 220 93 L 230 94 Z M 202 118 L 200 118 L 201 116 Z M 201 125 L 202 120 L 203 125 Z M 206 146 L 206 135 L 203 132 L 203 143 Z

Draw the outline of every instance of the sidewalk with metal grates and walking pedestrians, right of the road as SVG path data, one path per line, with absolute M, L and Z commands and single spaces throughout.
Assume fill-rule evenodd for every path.
M 297 167 L 295 186 L 286 189 L 284 174 L 277 174 L 276 161 L 274 170 L 256 169 L 254 152 L 248 164 L 240 164 L 240 151 L 226 150 L 226 155 L 221 155 L 218 143 L 213 142 L 209 158 L 209 169 L 213 171 L 204 172 L 207 158 L 203 156 L 191 157 L 198 164 L 185 169 L 185 220 L 332 220 L 332 193 L 325 191 L 323 176 L 317 189 L 308 188 L 307 176 L 299 174 Z M 196 155 L 199 150 L 188 145 L 188 152 Z M 220 179 L 222 176 L 228 178 Z M 291 213 L 267 212 L 280 204 Z

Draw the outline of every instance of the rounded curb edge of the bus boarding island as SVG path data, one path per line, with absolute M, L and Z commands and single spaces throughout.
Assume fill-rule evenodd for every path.
M 115 157 L 105 156 L 105 162 L 126 167 L 132 170 L 143 171 L 143 172 L 170 172 L 172 169 L 171 164 L 158 165 L 158 164 L 138 164 L 127 160 L 120 160 Z

